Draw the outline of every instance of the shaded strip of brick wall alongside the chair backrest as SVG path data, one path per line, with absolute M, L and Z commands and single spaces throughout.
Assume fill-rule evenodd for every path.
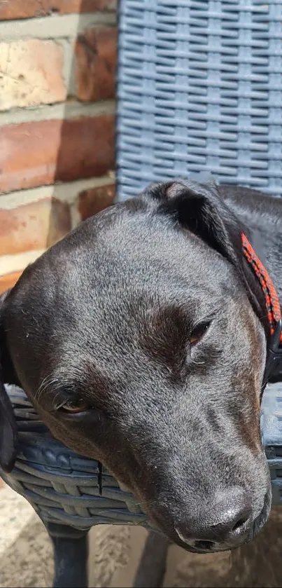
M 57 139 L 48 246 L 58 200 L 69 207 L 64 228 L 72 228 L 115 196 L 115 1 L 80 0 L 71 18 L 73 34 L 58 39 L 66 85 L 62 118 L 45 121 L 46 144 L 56 145 Z

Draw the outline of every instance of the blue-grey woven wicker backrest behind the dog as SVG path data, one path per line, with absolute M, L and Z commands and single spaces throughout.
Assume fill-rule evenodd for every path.
M 208 172 L 282 196 L 282 0 L 120 0 L 118 196 Z

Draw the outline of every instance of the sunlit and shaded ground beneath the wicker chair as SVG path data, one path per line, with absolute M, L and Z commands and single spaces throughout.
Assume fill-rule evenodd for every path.
M 52 547 L 41 521 L 24 498 L 10 488 L 0 492 L 0 587 L 48 587 Z M 146 531 L 99 526 L 90 537 L 90 587 L 130 588 Z M 282 587 L 282 507 L 258 538 L 236 552 L 192 555 L 170 547 L 164 587 Z

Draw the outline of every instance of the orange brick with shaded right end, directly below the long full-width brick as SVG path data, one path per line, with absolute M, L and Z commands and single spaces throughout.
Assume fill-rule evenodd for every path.
M 0 255 L 45 249 L 71 230 L 69 205 L 44 198 L 0 210 Z

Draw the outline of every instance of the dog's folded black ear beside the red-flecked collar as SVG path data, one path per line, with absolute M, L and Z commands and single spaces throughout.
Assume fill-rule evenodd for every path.
M 262 313 L 264 296 L 242 249 L 241 233 L 245 229 L 220 196 L 216 184 L 198 184 L 190 180 L 167 182 L 152 186 L 148 196 L 155 200 L 160 212 L 169 214 L 179 226 L 197 235 L 230 261 L 244 283 L 253 310 L 259 317 L 265 314 Z

